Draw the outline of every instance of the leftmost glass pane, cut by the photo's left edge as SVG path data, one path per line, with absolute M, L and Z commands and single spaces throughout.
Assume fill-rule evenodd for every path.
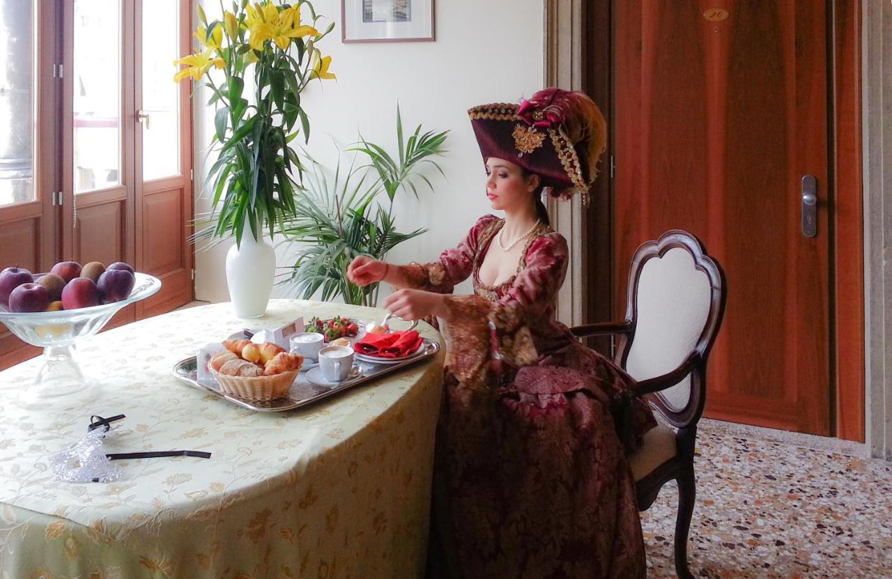
M 34 12 L 0 0 L 0 206 L 34 201 Z

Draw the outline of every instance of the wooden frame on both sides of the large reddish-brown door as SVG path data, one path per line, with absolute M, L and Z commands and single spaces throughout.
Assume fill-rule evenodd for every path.
M 607 117 L 613 117 L 612 0 L 548 0 L 545 29 L 546 84 L 565 88 L 582 88 L 591 95 Z M 861 98 L 861 5 L 847 0 L 828 0 L 831 18 L 830 65 L 830 159 L 831 192 L 834 215 L 830 224 L 831 246 L 831 432 L 839 438 L 863 442 L 865 434 L 865 349 L 864 349 L 864 252 L 863 252 L 863 177 L 862 177 L 862 98 Z M 582 15 L 584 25 L 574 22 Z M 578 29 L 579 37 L 571 37 L 570 44 L 583 46 L 582 56 L 572 50 L 561 50 L 560 31 Z M 566 43 L 566 40 L 564 41 Z M 560 79 L 579 79 L 574 75 L 582 70 L 579 86 L 565 86 Z M 556 82 L 557 81 L 557 82 Z M 605 170 L 599 175 L 592 191 L 593 203 L 588 211 L 581 211 L 574 227 L 561 227 L 565 235 L 578 238 L 574 247 L 582 246 L 582 255 L 572 257 L 569 269 L 570 304 L 572 315 L 584 322 L 604 321 L 622 316 L 615 310 L 611 264 L 630 260 L 631 256 L 615 256 L 613 249 L 613 207 L 615 191 L 611 178 L 612 141 L 602 161 Z M 571 208 L 566 208 L 571 209 Z M 560 211 L 559 209 L 556 211 Z M 566 210 L 564 210 L 566 211 Z M 559 214 L 558 214 L 559 217 Z M 566 220 L 566 218 L 565 218 Z M 582 235 L 580 235 L 582 234 Z M 644 241 L 644 240 L 642 240 Z M 707 248 L 708 250 L 708 248 Z M 583 284 L 583 281 L 588 283 Z M 581 294 L 582 293 L 582 294 Z M 603 345 L 600 349 L 603 350 Z M 892 440 L 892 437 L 890 437 Z M 888 443 L 887 449 L 892 448 Z M 892 452 L 892 451 L 890 451 Z

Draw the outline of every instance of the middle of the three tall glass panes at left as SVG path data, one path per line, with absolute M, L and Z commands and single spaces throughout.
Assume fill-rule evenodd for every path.
M 74 0 L 74 192 L 120 183 L 120 0 Z

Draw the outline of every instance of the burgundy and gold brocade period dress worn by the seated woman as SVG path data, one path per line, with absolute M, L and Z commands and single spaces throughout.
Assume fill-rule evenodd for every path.
M 530 237 L 517 272 L 483 285 L 478 270 L 504 221 L 477 221 L 439 261 L 403 272 L 449 294 L 447 372 L 434 467 L 434 541 L 457 577 L 546 579 L 646 575 L 634 481 L 610 402 L 624 371 L 554 321 L 566 240 Z M 640 440 L 655 423 L 637 404 Z

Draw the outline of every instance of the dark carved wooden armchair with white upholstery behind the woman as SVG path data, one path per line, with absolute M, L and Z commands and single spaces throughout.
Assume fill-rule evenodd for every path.
M 666 232 L 632 260 L 625 320 L 572 328 L 574 335 L 619 335 L 615 362 L 638 383 L 627 393 L 657 410 L 659 425 L 629 457 L 640 510 L 677 481 L 675 572 L 688 569 L 688 532 L 696 499 L 694 444 L 706 401 L 706 357 L 722 323 L 725 279 L 695 236 Z M 670 427 L 672 426 L 672 427 Z M 674 429 L 673 429 L 674 428 Z

